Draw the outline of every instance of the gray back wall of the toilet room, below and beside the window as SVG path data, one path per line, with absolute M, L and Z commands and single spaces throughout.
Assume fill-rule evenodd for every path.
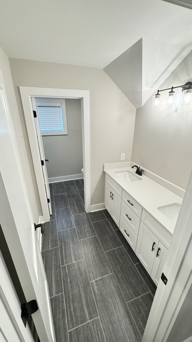
M 83 168 L 81 100 L 66 99 L 67 135 L 43 136 L 49 178 L 81 174 Z

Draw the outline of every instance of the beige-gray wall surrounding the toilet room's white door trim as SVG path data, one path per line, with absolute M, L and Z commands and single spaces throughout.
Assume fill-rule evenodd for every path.
M 31 152 L 19 86 L 90 91 L 91 205 L 104 202 L 104 163 L 131 160 L 136 109 L 104 70 L 10 59 L 28 158 Z M 35 177 L 34 170 L 32 176 Z M 34 181 L 35 185 L 35 181 Z M 36 185 L 35 185 L 36 186 Z

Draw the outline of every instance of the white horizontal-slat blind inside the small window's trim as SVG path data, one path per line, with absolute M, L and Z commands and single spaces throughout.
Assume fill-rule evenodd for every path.
M 64 131 L 61 105 L 38 106 L 38 113 L 42 132 Z

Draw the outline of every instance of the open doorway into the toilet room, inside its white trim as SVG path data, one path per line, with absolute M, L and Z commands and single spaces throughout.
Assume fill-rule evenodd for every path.
M 35 97 L 35 105 L 50 185 L 51 218 L 55 209 L 69 206 L 67 199 L 84 211 L 81 100 Z M 58 195 L 56 203 L 54 195 Z

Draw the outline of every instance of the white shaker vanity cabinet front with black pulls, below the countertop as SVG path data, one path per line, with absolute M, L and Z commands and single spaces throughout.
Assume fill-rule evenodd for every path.
M 158 285 L 172 234 L 107 173 L 105 180 L 105 208 Z

